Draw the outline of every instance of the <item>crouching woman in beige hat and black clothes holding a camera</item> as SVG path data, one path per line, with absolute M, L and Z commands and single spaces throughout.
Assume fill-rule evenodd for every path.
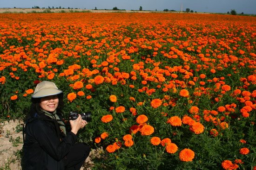
M 40 82 L 32 95 L 32 105 L 24 128 L 23 165 L 25 170 L 80 170 L 90 148 L 75 143 L 79 129 L 87 121 L 69 120 L 66 132 L 61 120 L 63 93 L 54 82 Z

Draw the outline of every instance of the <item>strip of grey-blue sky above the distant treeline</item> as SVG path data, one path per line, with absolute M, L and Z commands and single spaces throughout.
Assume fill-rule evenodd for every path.
M 164 9 L 186 11 L 186 8 L 201 13 L 256 14 L 256 0 L 0 0 L 0 8 L 60 7 L 79 9 L 118 9 L 163 11 Z

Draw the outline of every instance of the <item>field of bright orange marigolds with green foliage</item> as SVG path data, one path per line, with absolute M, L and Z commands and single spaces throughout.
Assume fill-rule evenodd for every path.
M 94 170 L 255 170 L 255 38 L 253 16 L 2 13 L 0 117 L 53 81 L 65 120 L 92 113 Z

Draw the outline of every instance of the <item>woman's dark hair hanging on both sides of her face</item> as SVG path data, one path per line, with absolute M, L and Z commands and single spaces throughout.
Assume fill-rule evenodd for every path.
M 62 115 L 62 109 L 64 107 L 64 101 L 63 101 L 63 93 L 61 94 L 57 94 L 58 98 L 59 98 L 59 104 L 57 107 L 57 114 L 58 115 Z M 40 108 L 40 101 L 41 101 L 41 97 L 40 98 L 31 98 L 31 108 L 30 108 L 30 115 L 34 115 L 34 113 L 39 113 L 39 111 L 37 110 L 37 108 Z

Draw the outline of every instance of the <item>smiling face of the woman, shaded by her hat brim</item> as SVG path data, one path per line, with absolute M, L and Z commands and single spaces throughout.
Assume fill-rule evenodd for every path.
M 47 112 L 54 112 L 59 105 L 58 95 L 49 95 L 42 97 L 40 100 L 40 107 Z

